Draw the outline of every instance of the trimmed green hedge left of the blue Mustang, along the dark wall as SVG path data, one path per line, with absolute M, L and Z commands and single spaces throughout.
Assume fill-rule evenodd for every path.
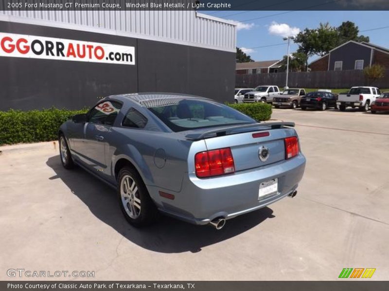
M 87 110 L 9 110 L 0 112 L 0 145 L 52 141 L 58 138 L 59 126 L 74 114 Z

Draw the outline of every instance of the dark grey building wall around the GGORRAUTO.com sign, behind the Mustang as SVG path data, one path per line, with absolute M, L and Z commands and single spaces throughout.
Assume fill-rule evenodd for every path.
M 233 96 L 235 53 L 112 34 L 0 21 L 0 32 L 135 47 L 135 65 L 0 57 L 0 110 L 80 109 L 146 91 Z

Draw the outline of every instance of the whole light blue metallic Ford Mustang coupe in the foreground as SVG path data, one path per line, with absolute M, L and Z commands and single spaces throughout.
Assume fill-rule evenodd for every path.
M 117 189 L 128 222 L 158 213 L 220 229 L 296 188 L 305 168 L 293 123 L 258 123 L 211 99 L 127 94 L 59 129 L 60 158 Z

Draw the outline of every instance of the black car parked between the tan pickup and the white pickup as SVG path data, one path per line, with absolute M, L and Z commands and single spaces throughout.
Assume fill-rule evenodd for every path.
M 309 92 L 301 97 L 300 106 L 302 110 L 307 108 L 316 108 L 322 111 L 329 107 L 337 108 L 337 95 L 329 92 L 315 91 Z

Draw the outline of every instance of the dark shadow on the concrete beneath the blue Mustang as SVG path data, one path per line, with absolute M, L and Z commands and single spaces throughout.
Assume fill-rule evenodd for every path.
M 216 230 L 210 226 L 195 226 L 161 215 L 157 224 L 137 229 L 125 220 L 115 190 L 79 167 L 64 169 L 59 155 L 49 158 L 46 164 L 56 173 L 50 179 L 60 178 L 98 219 L 129 241 L 155 252 L 199 252 L 204 246 L 228 240 L 259 225 L 266 218 L 274 217 L 273 210 L 265 207 L 231 219 L 223 229 Z

